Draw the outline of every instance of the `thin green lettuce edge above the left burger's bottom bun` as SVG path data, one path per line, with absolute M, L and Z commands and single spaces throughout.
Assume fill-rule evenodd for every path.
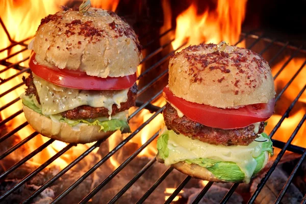
M 24 106 L 27 106 L 30 109 L 32 109 L 33 111 L 43 115 L 42 112 L 41 112 L 41 108 L 39 108 L 36 105 L 33 97 L 35 97 L 35 96 L 34 95 L 30 95 L 30 96 L 21 95 L 20 96 L 20 98 L 22 99 L 22 104 Z M 121 133 L 131 133 L 129 123 L 127 123 L 126 120 L 119 120 L 119 119 L 105 120 L 105 118 L 101 118 L 102 120 L 100 118 L 89 119 L 89 120 L 85 120 L 85 119 L 71 120 L 71 119 L 62 117 L 60 114 L 50 115 L 50 116 L 46 116 L 46 117 L 52 118 L 54 120 L 58 120 L 60 122 L 66 122 L 70 126 L 74 126 L 74 125 L 77 125 L 79 123 L 87 123 L 88 125 L 99 125 L 100 126 L 99 131 L 107 132 L 107 131 L 120 130 Z

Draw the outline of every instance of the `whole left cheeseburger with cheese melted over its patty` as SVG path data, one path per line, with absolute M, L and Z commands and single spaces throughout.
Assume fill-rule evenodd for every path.
M 88 143 L 130 132 L 141 46 L 114 12 L 68 9 L 41 20 L 20 97 L 34 130 L 63 142 Z

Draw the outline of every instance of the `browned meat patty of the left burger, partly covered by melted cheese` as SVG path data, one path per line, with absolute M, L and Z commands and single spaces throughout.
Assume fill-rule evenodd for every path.
M 25 95 L 34 94 L 36 96 L 38 103 L 40 104 L 39 96 L 36 87 L 33 83 L 32 72 L 27 79 L 23 77 L 23 81 L 25 82 L 25 85 L 28 86 L 28 88 L 25 89 Z M 121 103 L 119 109 L 117 108 L 117 105 L 113 105 L 112 115 L 115 115 L 116 113 L 119 113 L 121 111 L 128 110 L 132 106 L 135 106 L 136 95 L 137 95 L 137 84 L 135 83 L 134 86 L 129 89 L 129 92 L 127 92 L 127 101 L 125 103 Z M 91 106 L 80 106 L 72 110 L 62 112 L 61 115 L 63 117 L 75 120 L 109 116 L 107 108 L 94 108 Z

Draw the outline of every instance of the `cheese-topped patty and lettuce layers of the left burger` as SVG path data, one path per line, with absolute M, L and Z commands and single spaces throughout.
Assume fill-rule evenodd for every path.
M 54 85 L 34 73 L 25 84 L 22 103 L 39 114 L 71 126 L 86 123 L 104 132 L 130 132 L 126 110 L 135 105 L 136 84 L 124 90 L 79 90 Z

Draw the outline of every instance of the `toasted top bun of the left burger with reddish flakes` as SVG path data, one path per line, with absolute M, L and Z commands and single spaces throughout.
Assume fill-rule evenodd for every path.
M 134 30 L 114 12 L 60 11 L 41 20 L 33 43 L 38 63 L 101 78 L 134 74 L 142 60 Z

